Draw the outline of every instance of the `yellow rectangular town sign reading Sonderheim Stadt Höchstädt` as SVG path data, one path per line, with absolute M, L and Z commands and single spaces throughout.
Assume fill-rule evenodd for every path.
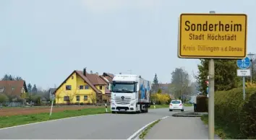
M 181 14 L 180 58 L 244 58 L 246 14 Z

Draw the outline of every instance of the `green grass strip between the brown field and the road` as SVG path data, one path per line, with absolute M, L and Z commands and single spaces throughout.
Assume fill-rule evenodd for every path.
M 108 112 L 109 112 L 108 108 Z M 93 115 L 106 113 L 105 108 L 85 108 L 81 110 L 64 110 L 58 113 L 52 113 L 51 117 L 49 113 L 38 113 L 30 115 L 11 115 L 11 116 L 0 116 L 0 128 L 6 128 L 10 126 L 18 126 L 28 123 L 36 123 L 40 121 L 50 121 L 59 118 L 69 118 L 80 115 Z

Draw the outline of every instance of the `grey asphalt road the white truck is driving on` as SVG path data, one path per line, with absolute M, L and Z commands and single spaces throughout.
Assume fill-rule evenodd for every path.
M 191 110 L 192 108 L 185 108 Z M 165 116 L 168 108 L 150 109 L 141 114 L 101 114 L 28 126 L 0 129 L 1 139 L 128 139 L 137 130 Z M 182 123 L 182 122 L 180 122 Z

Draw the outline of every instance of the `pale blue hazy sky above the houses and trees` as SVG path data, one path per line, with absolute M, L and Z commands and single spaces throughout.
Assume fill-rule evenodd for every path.
M 255 0 L 1 0 L 0 76 L 47 89 L 87 67 L 171 82 L 175 68 L 193 75 L 200 63 L 177 56 L 180 14 L 247 14 L 247 53 L 256 53 L 255 7 Z

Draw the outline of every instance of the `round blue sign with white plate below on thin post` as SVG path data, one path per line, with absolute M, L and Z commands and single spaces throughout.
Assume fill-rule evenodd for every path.
M 251 60 L 249 57 L 237 60 L 236 66 L 239 67 L 236 73 L 237 76 L 243 77 L 243 100 L 245 100 L 245 76 L 251 76 L 251 71 L 248 69 L 251 66 Z

